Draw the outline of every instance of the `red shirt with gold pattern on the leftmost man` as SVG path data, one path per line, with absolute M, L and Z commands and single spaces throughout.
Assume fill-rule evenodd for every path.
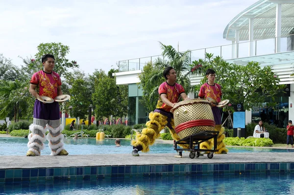
M 57 96 L 57 88 L 61 86 L 59 74 L 55 72 L 46 73 L 43 70 L 32 75 L 31 84 L 39 85 L 39 95 L 55 98 Z

